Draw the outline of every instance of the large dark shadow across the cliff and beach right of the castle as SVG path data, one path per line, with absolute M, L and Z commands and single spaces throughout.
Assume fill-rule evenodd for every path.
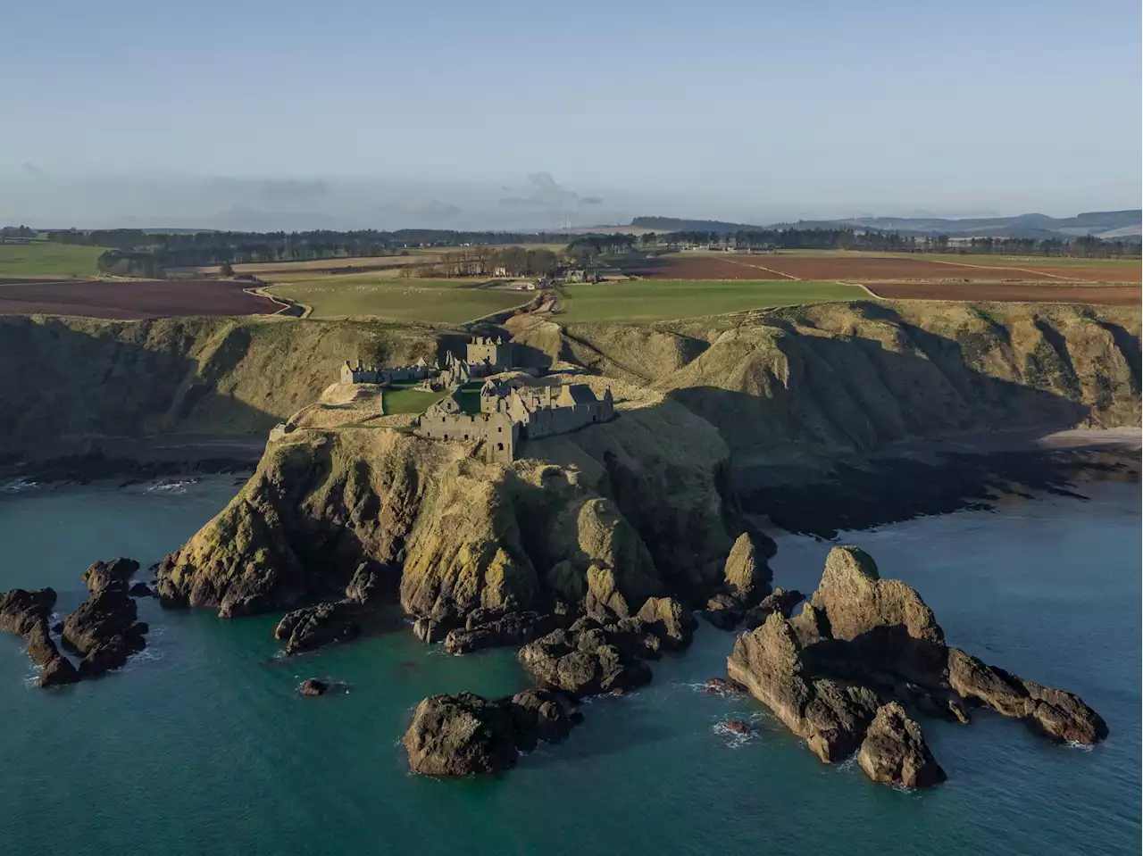
M 669 398 L 712 423 L 730 446 L 743 507 L 782 528 L 834 537 L 918 514 L 981 506 L 1012 483 L 1066 493 L 1074 455 L 946 451 L 925 446 L 980 432 L 1047 433 L 1074 427 L 1090 409 L 1058 333 L 1042 355 L 1068 394 L 989 376 L 964 345 L 905 322 L 892 307 L 862 304 L 871 319 L 898 327 L 903 351 L 860 336 L 790 333 L 776 343 L 789 377 L 746 378 L 748 394 L 716 386 L 678 389 Z M 1042 366 L 1041 366 L 1042 368 Z M 1074 398 L 1073 398 L 1074 395 Z

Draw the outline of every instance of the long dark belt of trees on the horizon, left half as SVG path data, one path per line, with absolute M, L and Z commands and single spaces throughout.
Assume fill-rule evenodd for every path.
M 549 243 L 561 237 L 507 234 L 504 232 L 456 232 L 433 229 L 401 229 L 394 232 L 358 230 L 335 232 L 144 232 L 111 229 L 51 232 L 48 240 L 111 248 L 104 266 L 130 264 L 154 271 L 222 264 L 303 262 L 323 258 L 360 258 L 397 255 L 410 247 L 465 247 L 493 243 Z M 142 256 L 150 256 L 153 264 Z M 146 274 L 151 275 L 151 274 Z

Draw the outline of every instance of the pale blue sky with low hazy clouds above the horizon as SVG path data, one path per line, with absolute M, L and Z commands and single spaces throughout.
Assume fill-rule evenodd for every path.
M 1141 25 L 1140 0 L 8 0 L 0 223 L 1137 208 Z

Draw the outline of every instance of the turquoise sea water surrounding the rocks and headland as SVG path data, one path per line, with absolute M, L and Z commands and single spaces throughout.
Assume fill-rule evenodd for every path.
M 83 598 L 94 559 L 150 565 L 234 490 L 69 487 L 0 494 L 0 590 Z M 449 657 L 408 632 L 283 661 L 273 617 L 223 622 L 141 601 L 149 649 L 105 679 L 29 683 L 0 637 L 3 854 L 1138 854 L 1143 851 L 1143 490 L 1085 488 L 847 541 L 914 585 L 950 640 L 1079 693 L 1094 751 L 1018 722 L 922 722 L 949 782 L 909 793 L 826 767 L 750 699 L 708 696 L 733 635 L 702 624 L 650 687 L 502 776 L 410 775 L 398 739 L 425 695 L 525 686 L 513 651 Z M 829 545 L 783 536 L 776 584 L 813 587 Z M 306 677 L 347 693 L 299 698 Z M 756 736 L 720 733 L 753 719 Z

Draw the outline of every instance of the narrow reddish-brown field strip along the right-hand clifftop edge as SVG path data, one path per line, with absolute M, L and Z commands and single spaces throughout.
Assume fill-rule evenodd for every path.
M 869 282 L 878 297 L 893 301 L 980 301 L 1014 303 L 1089 303 L 1143 306 L 1143 288 L 1134 286 L 1058 286 L 1041 282 Z

